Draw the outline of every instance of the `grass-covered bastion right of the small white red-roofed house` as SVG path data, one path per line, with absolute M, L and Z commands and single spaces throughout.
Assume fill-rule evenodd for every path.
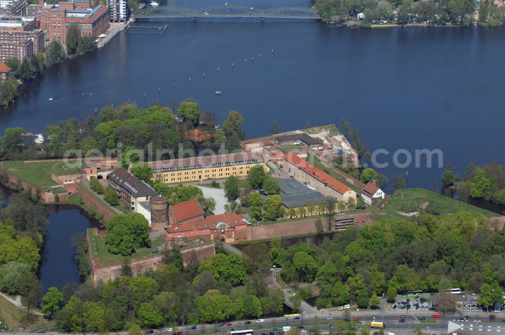
M 411 213 L 420 210 L 421 206 L 427 201 L 429 203 L 429 208 L 435 212 L 435 215 L 452 215 L 461 211 L 469 211 L 474 216 L 480 214 L 487 217 L 498 216 L 498 214 L 489 210 L 472 206 L 465 202 L 421 188 L 400 190 L 400 192 L 403 196 L 401 194 L 396 194 L 387 199 L 386 209 Z M 403 217 L 406 218 L 407 216 Z

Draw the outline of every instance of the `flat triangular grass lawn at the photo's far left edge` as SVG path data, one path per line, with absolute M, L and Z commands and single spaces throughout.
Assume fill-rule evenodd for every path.
M 14 176 L 39 188 L 54 186 L 57 183 L 51 178 L 51 169 L 56 163 L 54 161 L 24 162 L 24 161 L 4 161 L 0 168 L 9 170 Z

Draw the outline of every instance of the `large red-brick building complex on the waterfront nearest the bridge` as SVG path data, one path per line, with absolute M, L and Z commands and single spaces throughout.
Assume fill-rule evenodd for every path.
M 81 36 L 97 37 L 109 28 L 107 7 L 98 5 L 91 8 L 89 1 L 62 1 L 58 5 L 45 5 L 39 0 L 37 21 L 40 28 L 48 33 L 49 40 L 56 39 L 65 43 L 67 28 L 71 24 L 78 24 Z

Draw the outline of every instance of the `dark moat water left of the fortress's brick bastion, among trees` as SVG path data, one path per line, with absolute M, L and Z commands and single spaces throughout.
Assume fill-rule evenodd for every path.
M 79 283 L 79 266 L 75 260 L 76 248 L 70 239 L 86 229 L 97 227 L 95 220 L 86 216 L 81 208 L 73 206 L 53 206 L 47 216 L 49 229 L 45 236 L 40 266 L 40 281 L 44 292 L 49 287 L 61 289 L 67 283 Z

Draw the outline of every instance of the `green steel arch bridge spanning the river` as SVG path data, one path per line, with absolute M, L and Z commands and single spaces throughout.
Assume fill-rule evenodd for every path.
M 199 9 L 160 6 L 137 10 L 133 13 L 135 19 L 142 18 L 198 18 L 198 17 L 258 17 L 264 18 L 289 18 L 289 19 L 320 19 L 319 13 L 310 8 L 302 7 L 276 7 L 255 8 L 242 5 L 219 5 Z

